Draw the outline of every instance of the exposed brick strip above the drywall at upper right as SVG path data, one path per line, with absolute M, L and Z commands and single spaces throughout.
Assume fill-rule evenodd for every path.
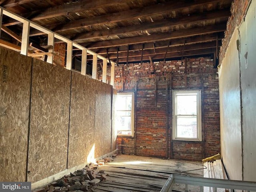
M 231 16 L 228 18 L 227 29 L 225 31 L 225 38 L 222 39 L 222 46 L 220 47 L 220 64 L 225 56 L 228 44 L 233 35 L 235 28 L 240 25 L 246 15 L 250 0 L 234 0 L 231 4 Z

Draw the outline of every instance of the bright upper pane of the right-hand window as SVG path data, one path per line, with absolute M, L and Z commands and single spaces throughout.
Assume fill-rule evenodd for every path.
M 177 95 L 177 113 L 182 115 L 196 115 L 196 95 Z

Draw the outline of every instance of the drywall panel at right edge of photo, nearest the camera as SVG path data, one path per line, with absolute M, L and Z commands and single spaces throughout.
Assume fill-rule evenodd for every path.
M 256 1 L 240 31 L 244 180 L 256 182 Z

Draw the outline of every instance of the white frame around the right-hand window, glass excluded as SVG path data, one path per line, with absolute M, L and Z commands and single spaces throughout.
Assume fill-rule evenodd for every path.
M 177 137 L 177 95 L 197 93 L 197 138 Z M 182 115 L 182 114 L 180 114 Z M 201 90 L 172 90 L 172 139 L 179 141 L 202 141 L 202 100 Z

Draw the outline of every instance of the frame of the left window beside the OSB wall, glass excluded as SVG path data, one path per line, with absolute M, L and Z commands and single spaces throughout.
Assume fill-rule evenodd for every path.
M 122 95 L 122 96 L 132 96 L 132 109 L 131 109 L 131 134 L 117 134 L 117 136 L 126 136 L 126 137 L 134 137 L 134 92 L 118 92 L 117 93 L 117 97 L 118 95 Z M 117 116 L 118 110 L 115 111 Z M 116 131 L 118 133 L 118 128 L 116 128 Z

